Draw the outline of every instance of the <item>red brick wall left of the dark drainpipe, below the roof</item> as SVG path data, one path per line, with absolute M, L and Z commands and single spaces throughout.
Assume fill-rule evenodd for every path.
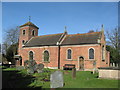
M 43 61 L 43 52 L 47 50 L 50 54 L 50 63 L 45 63 Z M 37 47 L 37 48 L 24 48 L 22 49 L 20 55 L 22 56 L 22 65 L 24 65 L 25 60 L 29 60 L 29 51 L 34 52 L 34 60 L 37 64 L 43 63 L 46 67 L 58 67 L 58 47 Z

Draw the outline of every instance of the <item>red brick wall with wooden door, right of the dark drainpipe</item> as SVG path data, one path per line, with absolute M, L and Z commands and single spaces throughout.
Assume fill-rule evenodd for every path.
M 66 51 L 70 48 L 72 50 L 72 60 L 66 59 Z M 89 59 L 89 48 L 94 48 L 94 59 Z M 78 58 L 80 56 L 84 57 L 84 68 L 85 69 L 92 69 L 93 68 L 93 61 L 96 60 L 97 67 L 100 66 L 101 63 L 101 54 L 100 54 L 100 45 L 81 45 L 81 46 L 67 46 L 61 48 L 61 68 L 64 64 L 75 64 L 76 68 L 78 68 Z

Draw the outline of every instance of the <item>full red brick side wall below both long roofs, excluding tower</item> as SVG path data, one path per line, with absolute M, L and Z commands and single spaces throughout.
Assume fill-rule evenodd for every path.
M 68 60 L 67 57 L 67 50 L 68 49 L 72 50 L 72 59 Z M 101 60 L 101 53 L 100 53 L 100 45 L 91 45 L 91 46 L 87 46 L 87 45 L 81 45 L 81 46 L 62 46 L 60 49 L 60 67 L 62 69 L 62 67 L 65 64 L 75 64 L 76 68 L 78 69 L 78 58 L 79 56 L 83 56 L 84 57 L 84 68 L 85 69 L 93 69 L 93 61 L 94 60 L 90 60 L 89 59 L 89 48 L 94 48 L 95 50 L 95 56 L 94 56 L 94 60 L 96 60 L 96 67 L 101 67 L 101 66 L 105 66 L 107 67 L 109 64 L 106 64 L 105 62 L 102 62 Z M 50 63 L 45 63 L 43 61 L 43 52 L 45 50 L 49 51 L 50 54 Z M 22 65 L 24 65 L 24 61 L 29 59 L 29 51 L 33 51 L 34 52 L 34 60 L 36 60 L 36 62 L 39 63 L 43 63 L 46 67 L 53 67 L 56 68 L 58 67 L 58 47 L 33 47 L 33 48 L 23 48 L 20 55 L 22 56 Z

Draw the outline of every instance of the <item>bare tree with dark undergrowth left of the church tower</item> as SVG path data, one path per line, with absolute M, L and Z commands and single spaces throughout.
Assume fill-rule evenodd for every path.
M 6 36 L 3 37 L 2 54 L 7 61 L 14 63 L 14 55 L 17 53 L 19 27 L 9 29 L 4 32 Z

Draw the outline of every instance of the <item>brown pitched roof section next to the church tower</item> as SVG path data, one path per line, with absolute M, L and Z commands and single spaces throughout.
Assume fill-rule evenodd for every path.
M 62 34 L 63 33 L 34 37 L 25 44 L 25 47 L 56 45 Z

